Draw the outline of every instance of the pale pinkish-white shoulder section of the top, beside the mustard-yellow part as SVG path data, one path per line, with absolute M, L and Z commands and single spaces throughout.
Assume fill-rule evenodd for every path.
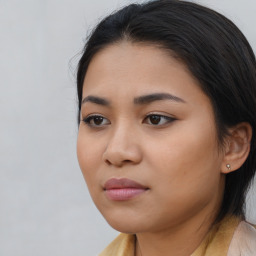
M 256 228 L 248 222 L 238 225 L 228 250 L 228 256 L 256 255 Z

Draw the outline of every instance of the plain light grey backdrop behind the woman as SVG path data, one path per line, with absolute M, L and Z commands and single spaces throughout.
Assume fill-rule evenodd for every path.
M 0 0 L 1 256 L 96 255 L 117 235 L 77 163 L 74 74 L 88 31 L 131 2 Z M 256 50 L 255 1 L 198 2 L 233 20 Z M 255 205 L 254 185 L 254 222 Z

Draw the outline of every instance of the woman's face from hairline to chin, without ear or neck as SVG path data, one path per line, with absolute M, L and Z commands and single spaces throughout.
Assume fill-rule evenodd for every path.
M 218 211 L 223 195 L 213 108 L 186 67 L 121 42 L 92 59 L 78 160 L 96 206 L 126 233 L 167 230 Z

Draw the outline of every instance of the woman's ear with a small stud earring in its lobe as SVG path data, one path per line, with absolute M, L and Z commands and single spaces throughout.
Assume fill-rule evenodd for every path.
M 222 173 L 233 172 L 243 165 L 250 152 L 251 139 L 252 127 L 249 123 L 239 123 L 229 129 L 221 165 Z

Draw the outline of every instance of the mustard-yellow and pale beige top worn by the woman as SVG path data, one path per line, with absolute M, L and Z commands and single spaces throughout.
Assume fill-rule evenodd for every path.
M 99 256 L 134 256 L 135 235 L 120 234 Z M 238 218 L 215 225 L 191 256 L 256 256 L 256 229 Z

